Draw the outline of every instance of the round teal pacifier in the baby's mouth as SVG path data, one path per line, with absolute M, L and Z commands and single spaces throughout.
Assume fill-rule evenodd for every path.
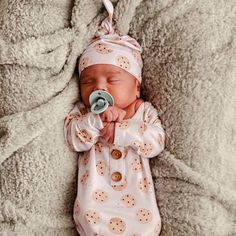
M 114 99 L 110 93 L 104 90 L 95 90 L 89 96 L 89 103 L 91 106 L 91 112 L 94 114 L 100 114 L 104 112 L 108 106 L 114 105 Z

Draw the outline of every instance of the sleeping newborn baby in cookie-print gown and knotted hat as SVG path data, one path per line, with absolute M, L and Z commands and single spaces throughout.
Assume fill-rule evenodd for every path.
M 82 102 L 65 121 L 68 146 L 80 153 L 74 220 L 81 236 L 157 236 L 161 219 L 149 158 L 164 149 L 165 134 L 156 109 L 140 98 L 141 48 L 114 33 L 113 6 L 79 61 Z M 91 112 L 97 90 L 115 104 Z

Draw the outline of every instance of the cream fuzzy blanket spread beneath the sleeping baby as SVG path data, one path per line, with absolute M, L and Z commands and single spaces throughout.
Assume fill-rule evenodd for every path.
M 119 31 L 143 47 L 143 96 L 166 130 L 151 161 L 161 235 L 236 235 L 235 0 L 113 3 Z M 106 14 L 101 0 L 0 1 L 0 235 L 76 235 L 63 122 Z

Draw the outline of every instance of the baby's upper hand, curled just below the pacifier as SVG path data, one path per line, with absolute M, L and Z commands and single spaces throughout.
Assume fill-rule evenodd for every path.
M 103 122 L 121 122 L 125 115 L 125 110 L 115 106 L 109 106 L 102 114 L 100 114 L 100 117 Z

